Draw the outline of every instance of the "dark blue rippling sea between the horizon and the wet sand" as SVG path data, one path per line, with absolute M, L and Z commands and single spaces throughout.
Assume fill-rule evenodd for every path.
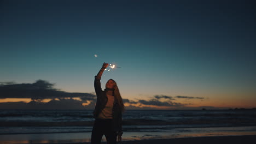
M 94 123 L 92 110 L 6 110 L 0 127 L 65 127 Z M 256 111 L 134 111 L 123 115 L 123 125 L 256 124 Z

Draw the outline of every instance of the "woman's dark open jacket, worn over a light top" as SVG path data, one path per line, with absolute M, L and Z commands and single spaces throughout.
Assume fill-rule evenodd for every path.
M 107 97 L 106 91 L 102 91 L 101 82 L 100 82 L 100 79 L 97 79 L 97 76 L 95 76 L 95 79 L 94 79 L 94 88 L 97 95 L 97 102 L 94 109 L 94 118 L 97 118 L 98 114 L 100 114 L 100 112 L 106 106 L 108 97 Z M 118 135 L 122 135 L 123 134 L 122 124 L 121 124 L 122 112 L 118 106 L 116 98 L 114 98 L 112 116 L 113 116 L 113 121 L 112 121 L 113 130 L 117 131 Z

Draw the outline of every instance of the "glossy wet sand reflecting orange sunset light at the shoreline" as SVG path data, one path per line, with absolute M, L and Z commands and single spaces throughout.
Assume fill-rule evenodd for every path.
M 126 131 L 123 141 L 142 141 L 153 139 L 177 139 L 184 137 L 206 136 L 242 136 L 256 135 L 256 127 L 222 128 L 178 128 L 166 132 Z M 55 134 L 16 134 L 0 135 L 0 144 L 28 143 L 90 143 L 91 133 L 55 133 Z M 106 142 L 103 136 L 103 142 Z

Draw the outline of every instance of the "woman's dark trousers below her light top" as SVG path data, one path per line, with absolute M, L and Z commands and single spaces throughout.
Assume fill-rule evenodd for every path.
M 100 144 L 103 135 L 108 144 L 117 143 L 117 131 L 112 128 L 112 119 L 95 119 L 91 132 L 91 144 Z

